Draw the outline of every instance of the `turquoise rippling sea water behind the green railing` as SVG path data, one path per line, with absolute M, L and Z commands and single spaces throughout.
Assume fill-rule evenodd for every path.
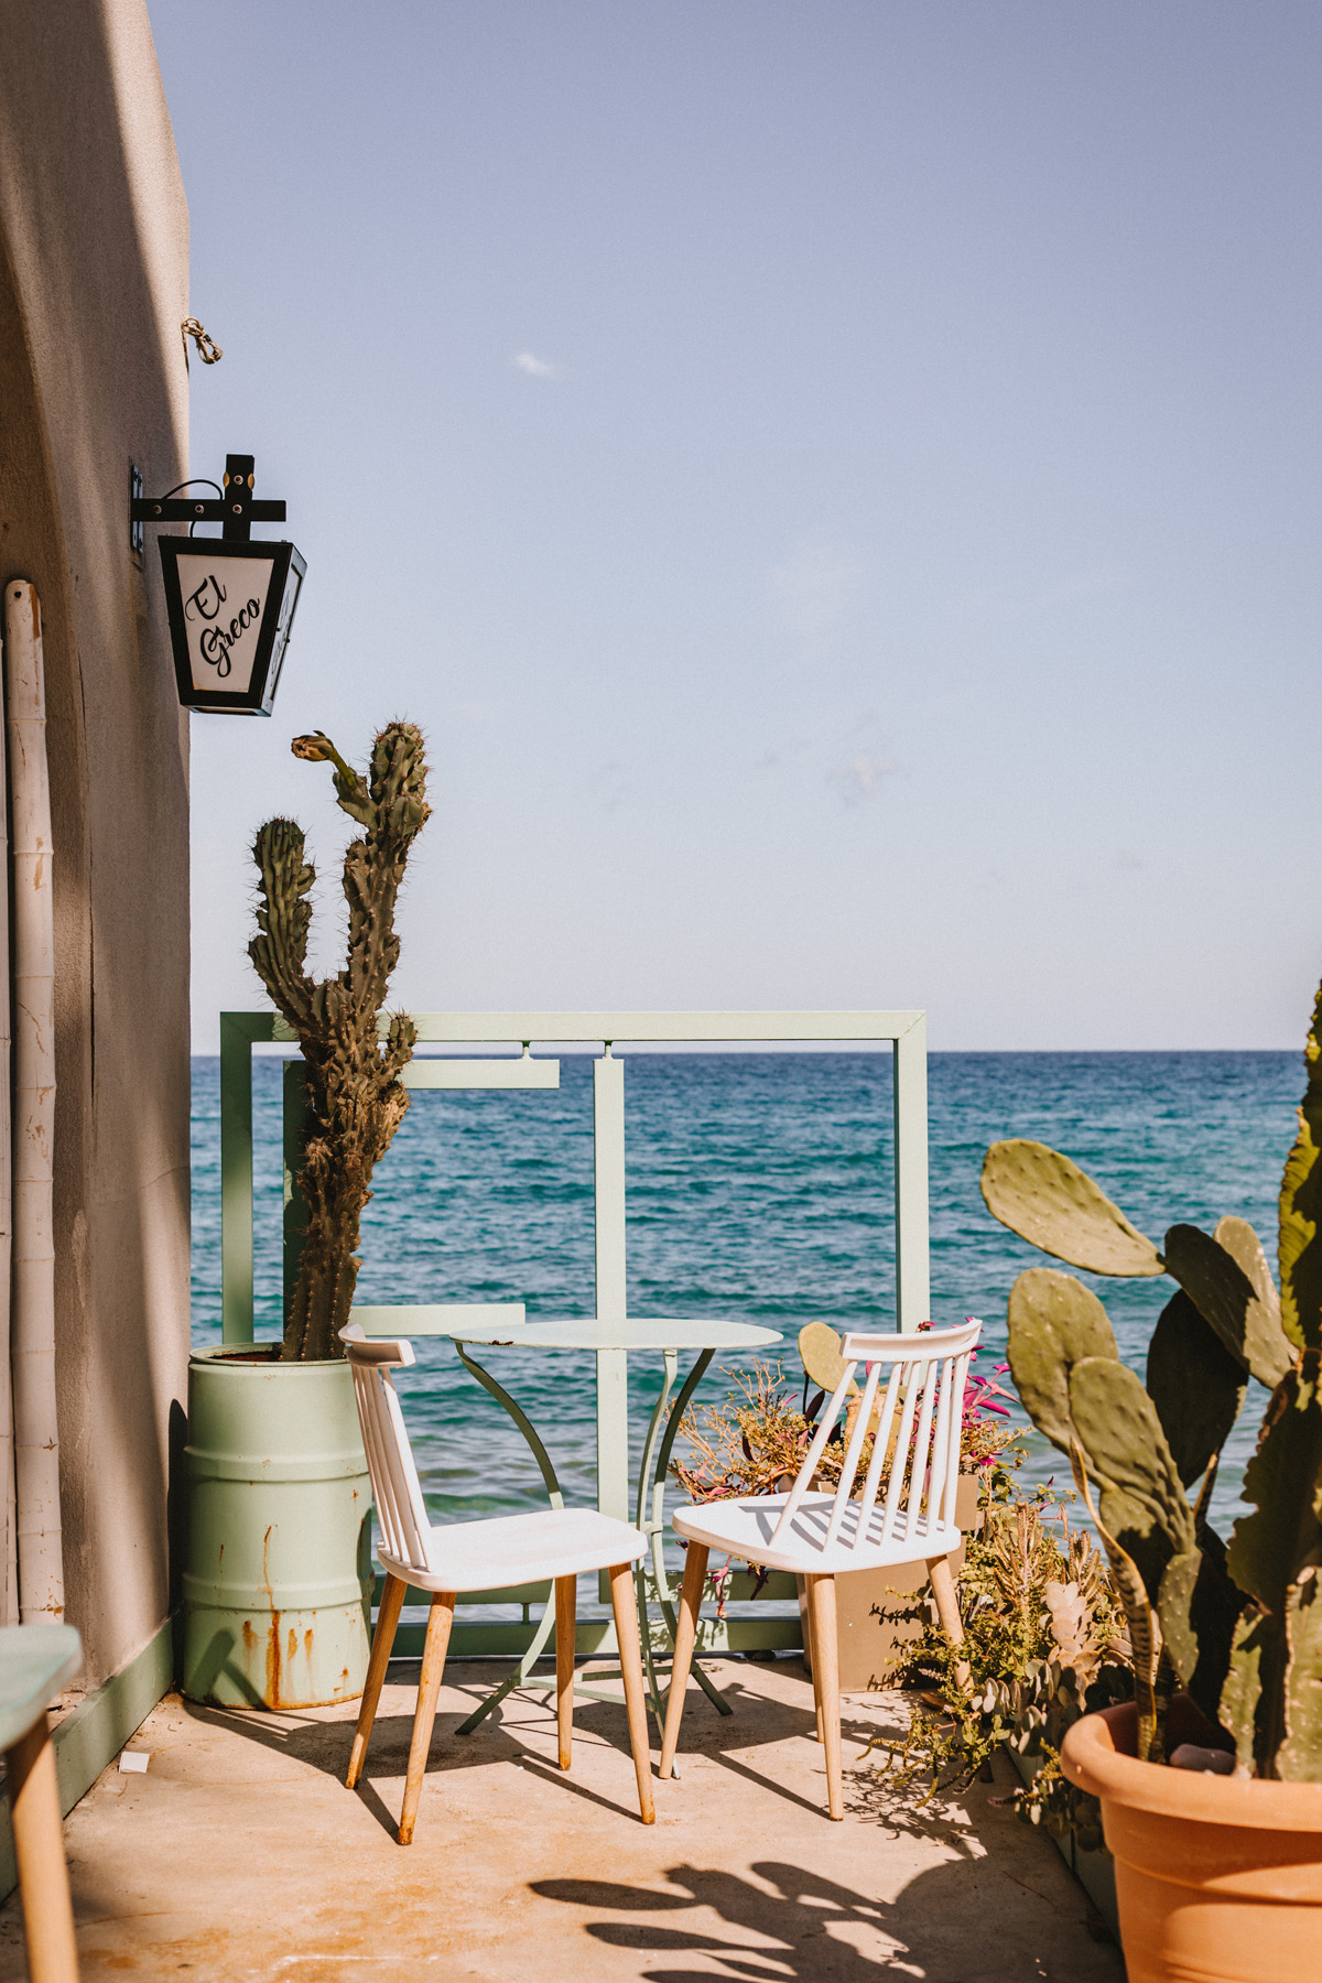
M 218 1061 L 194 1059 L 192 1327 L 220 1337 Z M 983 1208 L 999 1136 L 1068 1152 L 1157 1243 L 1167 1225 L 1253 1220 L 1274 1257 L 1276 1188 L 1302 1093 L 1296 1053 L 947 1053 L 930 1063 L 932 1313 L 987 1323 L 1043 1255 Z M 636 1053 L 626 1065 L 628 1301 L 636 1315 L 719 1315 L 785 1335 L 807 1321 L 894 1327 L 888 1053 Z M 279 1061 L 258 1057 L 258 1335 L 279 1331 Z M 1171 1283 L 1098 1281 L 1140 1370 Z M 359 1299 L 525 1301 L 593 1311 L 593 1067 L 561 1055 L 559 1091 L 418 1093 L 363 1220 Z M 589 1356 L 486 1352 L 537 1422 L 571 1501 L 595 1497 Z M 717 1398 L 714 1366 L 702 1396 Z M 418 1342 L 400 1390 L 436 1513 L 541 1505 L 541 1477 L 448 1342 Z M 640 1438 L 656 1374 L 630 1364 Z M 1217 1515 L 1235 1515 L 1263 1394 L 1251 1386 Z M 1064 1481 L 1035 1442 L 1029 1477 Z

